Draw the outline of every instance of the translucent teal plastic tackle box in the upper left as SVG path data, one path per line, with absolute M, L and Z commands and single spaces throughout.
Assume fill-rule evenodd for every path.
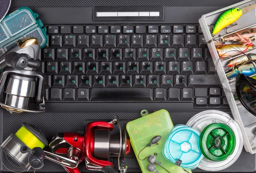
M 38 14 L 28 7 L 21 7 L 7 15 L 0 22 L 0 56 L 9 50 L 22 37 L 35 37 L 40 47 L 47 44 L 46 28 Z

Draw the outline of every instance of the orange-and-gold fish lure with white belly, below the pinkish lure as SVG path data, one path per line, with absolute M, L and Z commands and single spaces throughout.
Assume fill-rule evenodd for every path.
M 241 54 L 242 52 L 246 52 L 247 50 L 253 49 L 255 46 L 253 44 L 227 44 L 217 46 L 216 50 L 218 52 L 219 57 L 227 58 L 233 57 L 235 55 Z

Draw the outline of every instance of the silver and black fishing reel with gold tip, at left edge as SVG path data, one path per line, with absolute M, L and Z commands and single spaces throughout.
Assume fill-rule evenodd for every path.
M 41 66 L 39 53 L 38 40 L 24 37 L 0 57 L 0 95 L 6 93 L 5 103 L 0 105 L 12 114 L 45 111 L 44 78 L 43 73 L 37 71 Z M 36 107 L 29 105 L 31 100 L 36 102 Z

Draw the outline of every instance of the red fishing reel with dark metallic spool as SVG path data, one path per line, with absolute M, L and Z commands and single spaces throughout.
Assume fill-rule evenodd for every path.
M 118 124 L 120 135 L 111 135 L 114 126 Z M 110 158 L 125 160 L 130 151 L 130 141 L 126 138 L 125 130 L 121 131 L 118 118 L 111 122 L 96 121 L 87 124 L 84 134 L 59 133 L 49 144 L 54 156 L 52 161 L 61 164 L 68 173 L 80 173 L 78 164 L 85 161 L 88 170 L 102 170 L 115 173 Z M 48 156 L 49 154 L 49 156 Z M 69 160 L 76 164 L 70 164 Z M 119 171 L 126 172 L 127 166 L 119 164 Z

